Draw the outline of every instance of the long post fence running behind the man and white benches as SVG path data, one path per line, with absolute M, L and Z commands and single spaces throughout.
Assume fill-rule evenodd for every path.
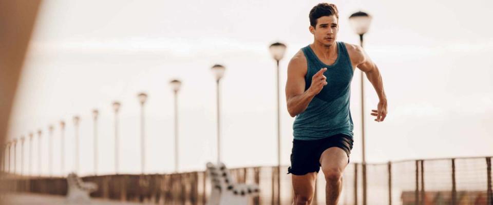
M 367 202 L 363 200 L 363 165 L 351 163 L 343 176 L 339 204 L 493 204 L 491 157 L 406 160 L 367 164 Z M 231 169 L 241 183 L 257 183 L 260 196 L 254 204 L 291 204 L 293 190 L 287 167 Z M 280 177 L 280 189 L 277 177 Z M 204 172 L 156 175 L 106 175 L 82 177 L 98 184 L 93 197 L 156 204 L 205 204 L 211 192 Z M 4 192 L 65 195 L 65 178 L 4 174 Z M 280 193 L 280 201 L 277 199 Z M 280 202 L 280 203 L 279 203 Z M 325 204 L 325 179 L 318 175 L 312 204 Z

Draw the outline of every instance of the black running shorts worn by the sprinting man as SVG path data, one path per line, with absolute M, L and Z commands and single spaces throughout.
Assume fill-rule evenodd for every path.
M 353 149 L 353 138 L 345 134 L 336 134 L 330 137 L 317 140 L 293 140 L 291 150 L 291 167 L 288 174 L 305 175 L 310 172 L 320 171 L 320 156 L 331 148 L 338 147 L 348 155 Z

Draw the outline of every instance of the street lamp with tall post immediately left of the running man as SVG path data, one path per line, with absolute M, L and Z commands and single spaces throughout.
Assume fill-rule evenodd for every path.
M 280 129 L 280 111 L 279 111 L 279 61 L 284 57 L 286 53 L 286 45 L 276 42 L 269 46 L 269 51 L 271 52 L 272 57 L 277 62 L 276 68 L 276 99 L 277 99 L 277 202 L 280 203 L 280 189 L 281 189 L 281 180 L 280 180 L 280 170 L 281 170 L 281 129 Z

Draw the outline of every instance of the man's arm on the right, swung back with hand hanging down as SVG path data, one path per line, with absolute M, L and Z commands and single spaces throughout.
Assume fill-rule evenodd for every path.
M 384 121 L 387 116 L 387 96 L 385 95 L 384 83 L 380 71 L 378 71 L 378 67 L 361 46 L 354 47 L 354 54 L 356 56 L 356 67 L 365 72 L 366 77 L 378 95 L 378 99 L 380 99 L 377 110 L 372 110 L 371 115 L 376 116 L 375 121 Z

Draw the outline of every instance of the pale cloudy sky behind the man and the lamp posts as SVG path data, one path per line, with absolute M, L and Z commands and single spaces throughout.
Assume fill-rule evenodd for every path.
M 281 69 L 281 157 L 289 165 L 292 123 L 283 92 L 289 59 L 313 41 L 308 13 L 318 1 L 43 2 L 10 121 L 10 138 L 53 124 L 53 169 L 60 173 L 59 121 L 66 120 L 66 171 L 73 168 L 72 116 L 81 116 L 81 173 L 93 173 L 91 110 L 99 109 L 99 174 L 113 172 L 113 113 L 119 100 L 123 173 L 140 172 L 139 103 L 146 111 L 146 172 L 174 170 L 171 79 L 179 93 L 180 171 L 216 160 L 216 95 L 211 66 L 222 64 L 222 158 L 229 167 L 277 161 L 275 61 Z M 367 161 L 493 155 L 491 1 L 332 1 L 337 40 L 358 44 L 348 17 L 373 16 L 365 49 L 381 71 L 388 116 L 373 121 L 378 98 L 366 80 Z M 352 83 L 354 147 L 361 161 L 359 70 Z M 37 136 L 33 155 L 37 155 Z M 26 144 L 27 146 L 28 144 Z M 20 153 L 18 151 L 17 153 Z M 27 154 L 27 149 L 25 151 Z M 37 158 L 35 158 L 37 159 Z M 25 161 L 27 167 L 27 158 Z M 33 164 L 37 173 L 37 164 Z M 47 164 L 42 167 L 48 173 Z

